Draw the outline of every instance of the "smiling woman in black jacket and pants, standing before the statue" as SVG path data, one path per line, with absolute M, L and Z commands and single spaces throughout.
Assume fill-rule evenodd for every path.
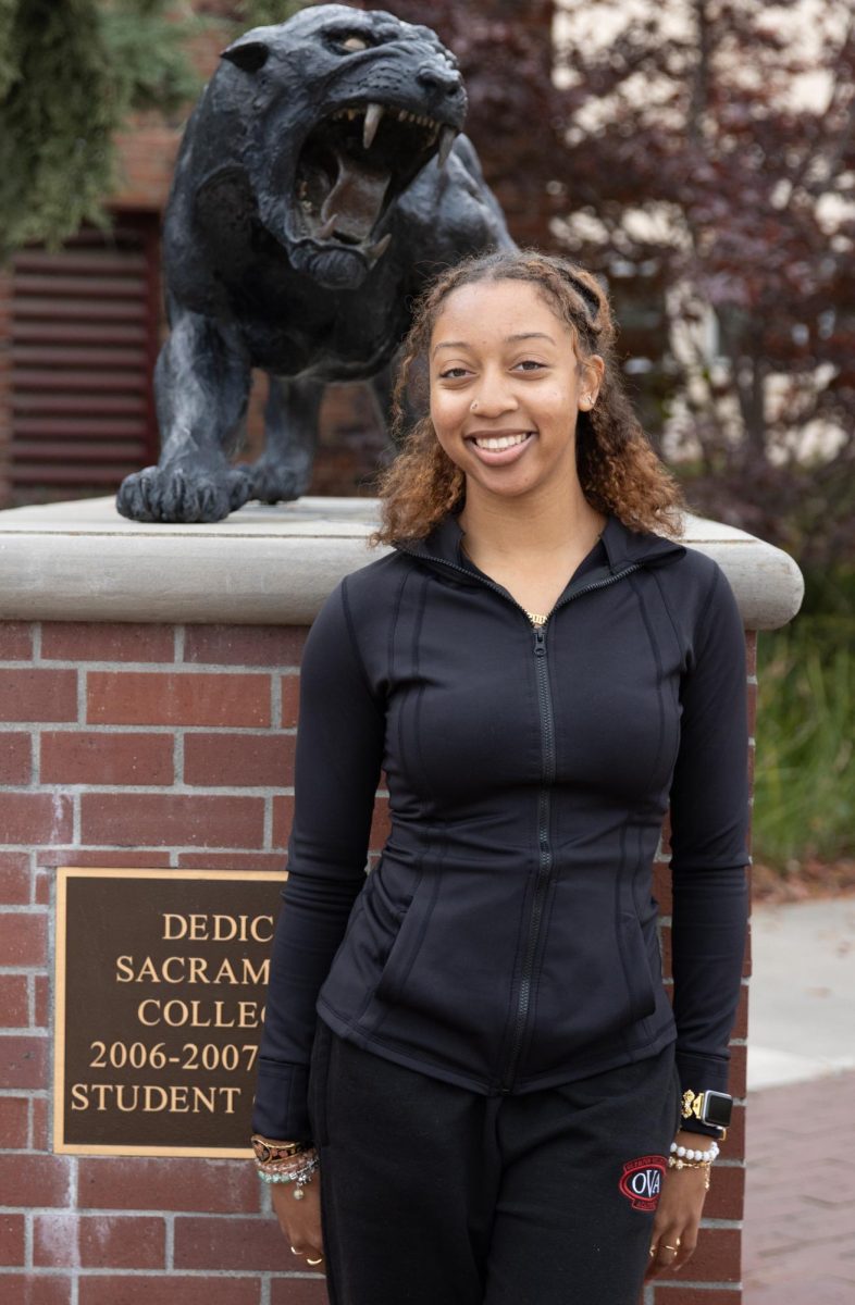
M 307 642 L 253 1126 L 334 1305 L 634 1305 L 694 1249 L 747 914 L 744 636 L 676 542 L 614 335 L 563 260 L 444 273 L 398 385 L 401 410 L 427 377 L 429 412 L 385 474 L 393 552 Z

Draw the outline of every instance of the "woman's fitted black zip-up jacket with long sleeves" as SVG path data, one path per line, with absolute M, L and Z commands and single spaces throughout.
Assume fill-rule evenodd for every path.
M 610 517 L 535 629 L 457 518 L 305 645 L 256 1131 L 311 1139 L 316 1015 L 475 1092 L 653 1056 L 727 1087 L 747 919 L 743 624 L 711 559 Z M 385 771 L 392 831 L 364 867 Z M 674 1010 L 651 864 L 671 804 Z

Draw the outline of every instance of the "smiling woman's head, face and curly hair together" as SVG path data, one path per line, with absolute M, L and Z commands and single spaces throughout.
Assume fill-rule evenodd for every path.
M 529 495 L 546 475 L 569 515 L 593 509 L 632 530 L 679 534 L 681 492 L 625 395 L 615 337 L 597 278 L 559 258 L 501 251 L 435 281 L 403 346 L 396 389 L 402 452 L 381 480 L 375 539 L 424 538 L 480 492 L 476 466 L 517 468 L 501 484 L 490 482 L 505 497 Z M 429 408 L 411 429 L 407 395 Z M 523 429 L 521 414 L 531 418 Z M 496 448 L 513 433 L 525 436 L 518 453 Z M 550 468 L 560 471 L 560 484 Z

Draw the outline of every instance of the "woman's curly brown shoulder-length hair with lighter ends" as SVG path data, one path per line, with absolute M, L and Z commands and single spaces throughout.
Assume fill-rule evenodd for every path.
M 623 388 L 606 291 L 591 273 L 565 258 L 520 249 L 465 258 L 436 277 L 416 300 L 393 395 L 393 435 L 401 452 L 379 478 L 381 523 L 371 543 L 423 539 L 466 501 L 465 475 L 440 445 L 427 414 L 427 355 L 448 296 L 480 281 L 533 284 L 569 329 L 580 365 L 593 354 L 606 363 L 597 403 L 578 414 L 576 427 L 576 466 L 589 504 L 617 517 L 630 530 L 681 535 L 685 500 L 641 429 Z M 424 415 L 407 429 L 409 395 Z

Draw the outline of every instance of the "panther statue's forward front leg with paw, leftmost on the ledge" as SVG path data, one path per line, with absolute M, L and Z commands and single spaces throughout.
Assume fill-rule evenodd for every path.
M 236 331 L 181 313 L 154 373 L 162 449 L 157 467 L 125 476 L 116 508 L 134 521 L 222 521 L 252 497 L 230 466 L 244 428 L 249 360 Z

